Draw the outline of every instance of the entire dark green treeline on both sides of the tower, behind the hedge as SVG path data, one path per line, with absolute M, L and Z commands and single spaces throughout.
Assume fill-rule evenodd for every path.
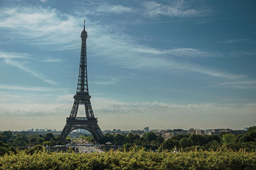
M 81 136 L 79 136 L 81 137 Z M 81 137 L 92 141 L 91 137 Z M 90 139 L 90 140 L 89 140 Z M 256 126 L 250 127 L 246 134 L 233 135 L 223 132 L 220 135 L 175 135 L 164 141 L 161 135 L 153 132 L 139 136 L 136 134 L 105 134 L 99 141 L 100 144 L 111 142 L 116 146 L 121 146 L 125 150 L 131 148 L 145 148 L 145 150 L 218 150 L 219 148 L 230 148 L 238 151 L 241 148 L 245 151 L 256 150 Z M 28 146 L 36 146 L 42 149 L 42 146 L 54 146 L 63 144 L 59 135 L 54 136 L 52 133 L 45 135 L 13 135 L 10 131 L 0 133 L 0 155 L 4 153 L 16 152 L 17 150 L 27 149 Z M 33 149 L 35 150 L 35 149 Z

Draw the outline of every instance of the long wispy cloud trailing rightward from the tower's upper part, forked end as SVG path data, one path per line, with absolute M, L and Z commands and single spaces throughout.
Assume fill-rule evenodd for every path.
M 104 56 L 101 58 L 111 65 L 130 69 L 182 69 L 190 72 L 199 72 L 214 77 L 226 79 L 243 79 L 247 75 L 225 72 L 216 68 L 191 63 L 186 59 L 195 57 L 221 57 L 218 52 L 207 52 L 198 49 L 155 49 L 134 43 L 131 37 L 125 35 L 109 35 L 104 27 L 93 26 L 92 44 L 88 44 L 93 54 Z M 101 49 L 101 50 L 99 50 Z M 125 53 L 124 53 L 125 51 Z M 170 58 L 178 56 L 178 58 Z

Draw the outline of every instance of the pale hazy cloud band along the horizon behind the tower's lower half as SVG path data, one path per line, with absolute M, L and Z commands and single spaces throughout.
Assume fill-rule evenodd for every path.
M 68 97 L 68 96 L 67 96 Z M 70 96 L 68 97 L 70 98 Z M 73 99 L 74 100 L 74 99 Z M 102 129 L 150 128 L 244 128 L 255 123 L 256 104 L 168 104 L 163 102 L 120 102 L 109 98 L 92 98 L 95 116 Z M 15 127 L 36 124 L 36 127 L 54 127 L 61 130 L 72 108 L 70 104 L 0 104 L 0 128 L 4 121 L 19 118 Z M 84 112 L 83 108 L 79 108 Z M 175 118 L 175 119 L 174 119 Z M 28 121 L 33 119 L 33 124 Z M 49 121 L 51 120 L 51 121 Z M 234 123 L 239 121 L 239 124 Z M 35 123 L 36 122 L 36 123 Z M 115 127 L 113 127 L 115 125 Z

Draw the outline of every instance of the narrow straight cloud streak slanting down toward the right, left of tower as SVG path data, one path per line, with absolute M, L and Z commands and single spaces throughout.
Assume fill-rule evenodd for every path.
M 44 82 L 49 83 L 49 84 L 52 84 L 52 85 L 58 84 L 58 82 L 45 77 L 45 75 L 43 75 L 42 73 L 36 72 L 34 70 L 31 70 L 30 68 L 28 68 L 27 66 L 24 66 L 22 63 L 20 63 L 18 61 L 14 61 L 12 59 L 5 58 L 5 63 L 8 64 L 8 65 L 16 66 L 20 70 L 22 70 L 24 72 L 27 72 L 27 73 L 30 73 L 31 75 L 41 79 Z

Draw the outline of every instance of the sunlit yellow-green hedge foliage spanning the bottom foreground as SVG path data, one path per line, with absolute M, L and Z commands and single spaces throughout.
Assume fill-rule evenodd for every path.
M 256 153 L 244 150 L 153 153 L 143 150 L 106 153 L 26 151 L 0 157 L 0 169 L 256 169 Z

